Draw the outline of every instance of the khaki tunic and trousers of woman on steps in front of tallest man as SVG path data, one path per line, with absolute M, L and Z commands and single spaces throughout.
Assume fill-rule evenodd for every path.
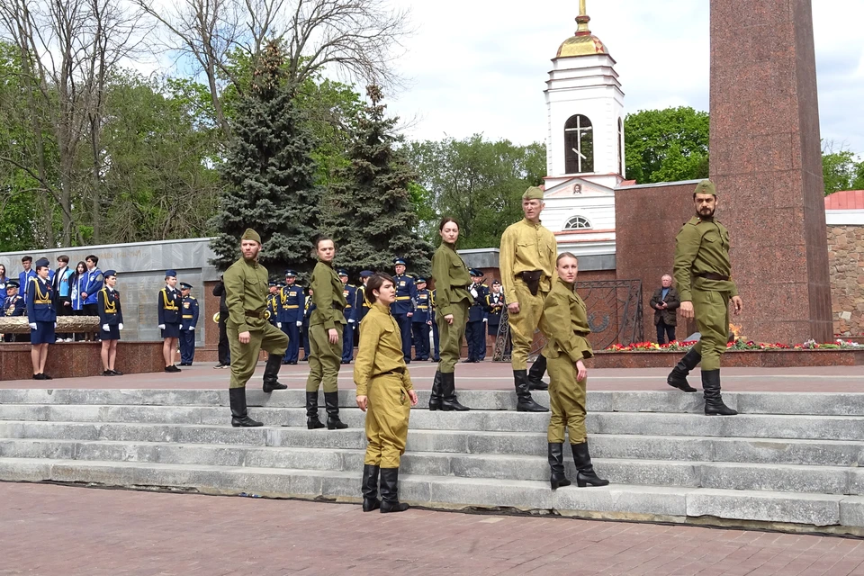
M 576 363 L 594 356 L 588 335 L 588 311 L 573 284 L 561 278 L 555 282 L 543 305 L 545 322 L 543 349 L 549 371 L 549 407 L 552 417 L 546 432 L 547 441 L 562 443 L 564 428 L 570 432 L 570 443 L 585 442 L 586 380 L 576 380 Z

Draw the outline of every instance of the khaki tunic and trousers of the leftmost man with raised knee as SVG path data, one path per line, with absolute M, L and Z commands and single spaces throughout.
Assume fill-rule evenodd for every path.
M 222 277 L 228 320 L 225 329 L 231 350 L 230 388 L 243 388 L 255 372 L 258 353 L 282 356 L 288 337 L 264 319 L 267 310 L 267 269 L 256 261 L 240 258 Z M 241 344 L 239 335 L 249 333 L 249 343 Z

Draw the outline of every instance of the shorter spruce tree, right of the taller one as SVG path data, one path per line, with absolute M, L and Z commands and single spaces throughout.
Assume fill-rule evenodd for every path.
M 384 115 L 378 86 L 366 88 L 370 103 L 361 112 L 349 149 L 351 165 L 340 168 L 329 186 L 326 228 L 338 243 L 337 262 L 351 277 L 361 270 L 391 272 L 402 257 L 410 272 L 431 272 L 432 247 L 422 239 L 410 200 L 414 181 L 405 155 L 395 148 L 398 118 Z

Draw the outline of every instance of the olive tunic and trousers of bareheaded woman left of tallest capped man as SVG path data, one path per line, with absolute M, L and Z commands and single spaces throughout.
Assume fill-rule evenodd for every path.
M 468 293 L 471 275 L 455 248 L 442 242 L 432 257 L 432 277 L 435 278 L 435 321 L 440 338 L 438 370 L 452 374 L 462 352 L 465 320 L 472 301 Z M 444 318 L 448 314 L 453 314 L 452 324 Z

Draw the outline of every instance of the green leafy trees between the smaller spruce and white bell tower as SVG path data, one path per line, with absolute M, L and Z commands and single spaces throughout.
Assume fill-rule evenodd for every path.
M 522 194 L 543 184 L 545 146 L 491 142 L 475 134 L 467 139 L 414 142 L 409 150 L 418 184 L 431 194 L 437 213 L 460 224 L 459 246 L 497 247 L 501 234 L 522 218 Z M 437 228 L 431 225 L 429 239 Z

